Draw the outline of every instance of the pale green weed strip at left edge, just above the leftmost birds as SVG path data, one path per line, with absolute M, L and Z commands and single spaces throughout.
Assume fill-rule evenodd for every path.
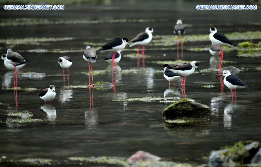
M 57 42 L 57 41 L 68 41 L 73 40 L 73 37 L 63 37 L 63 38 L 20 38 L 20 39 L 0 39 L 0 43 L 6 45 L 19 45 L 19 44 L 31 44 L 31 45 L 44 45 L 45 42 Z

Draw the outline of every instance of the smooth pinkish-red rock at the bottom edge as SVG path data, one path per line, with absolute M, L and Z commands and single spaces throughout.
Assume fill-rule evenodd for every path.
M 132 163 L 135 161 L 159 161 L 161 157 L 153 155 L 145 151 L 137 151 L 132 156 L 130 156 L 127 161 Z

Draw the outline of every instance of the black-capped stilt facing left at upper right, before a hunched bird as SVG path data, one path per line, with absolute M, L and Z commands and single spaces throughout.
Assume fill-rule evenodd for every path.
M 210 33 L 209 38 L 210 38 L 211 42 L 213 42 L 214 44 L 220 45 L 221 53 L 220 53 L 220 60 L 219 60 L 219 67 L 218 67 L 218 70 L 220 71 L 222 68 L 222 61 L 223 61 L 223 55 L 224 55 L 221 46 L 226 45 L 226 46 L 233 47 L 232 45 L 239 46 L 239 44 L 233 43 L 224 34 L 217 32 L 217 28 L 215 28 L 215 27 L 210 28 L 210 30 L 206 33 Z

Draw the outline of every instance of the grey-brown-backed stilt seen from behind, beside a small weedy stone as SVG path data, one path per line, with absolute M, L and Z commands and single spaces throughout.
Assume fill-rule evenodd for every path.
M 85 51 L 83 52 L 83 58 L 84 60 L 86 60 L 89 64 L 89 85 L 88 87 L 92 87 L 93 85 L 93 71 L 92 71 L 92 63 L 96 62 L 96 51 L 94 49 L 91 48 L 91 46 L 86 46 Z M 91 67 L 90 67 L 90 63 L 91 62 Z M 91 79 L 92 79 L 92 85 L 91 85 Z

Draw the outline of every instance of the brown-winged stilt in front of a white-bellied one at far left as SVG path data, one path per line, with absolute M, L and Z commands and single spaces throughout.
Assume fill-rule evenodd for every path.
M 16 66 L 18 64 L 26 64 L 26 61 L 19 53 L 13 52 L 12 49 L 7 49 L 6 52 L 6 60 L 8 63 L 12 64 L 15 68 L 15 81 L 14 81 L 14 88 L 17 88 L 17 69 Z

